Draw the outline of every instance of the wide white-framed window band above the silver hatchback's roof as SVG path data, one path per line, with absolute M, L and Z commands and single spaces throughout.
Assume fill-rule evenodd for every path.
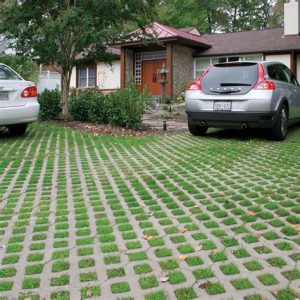
M 205 69 L 214 64 L 232 62 L 232 61 L 261 61 L 263 60 L 262 54 L 249 54 L 245 56 L 220 56 L 220 57 L 207 57 L 195 59 L 194 77 L 198 78 Z

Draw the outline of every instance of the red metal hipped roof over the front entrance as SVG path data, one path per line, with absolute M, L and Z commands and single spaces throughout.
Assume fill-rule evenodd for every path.
M 202 36 L 189 33 L 180 29 L 175 29 L 159 23 L 152 23 L 144 28 L 144 30 L 137 29 L 130 33 L 129 39 L 117 43 L 118 45 L 135 45 L 140 44 L 149 39 L 158 39 L 160 41 L 177 40 L 183 43 L 201 46 L 203 48 L 210 48 L 211 44 L 205 40 Z

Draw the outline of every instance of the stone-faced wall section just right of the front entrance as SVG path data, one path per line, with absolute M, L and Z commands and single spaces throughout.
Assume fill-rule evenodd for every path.
M 191 48 L 173 46 L 173 97 L 183 92 L 186 84 L 193 80 L 193 54 L 194 50 Z

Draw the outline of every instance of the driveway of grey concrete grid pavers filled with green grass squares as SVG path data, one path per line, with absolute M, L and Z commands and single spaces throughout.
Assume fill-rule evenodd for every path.
M 300 129 L 0 132 L 0 299 L 295 299 Z M 299 297 L 299 296 L 298 296 Z

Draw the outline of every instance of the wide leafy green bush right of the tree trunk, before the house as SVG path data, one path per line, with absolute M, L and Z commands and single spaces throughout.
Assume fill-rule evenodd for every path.
M 146 90 L 139 93 L 131 83 L 109 95 L 90 90 L 74 93 L 69 100 L 69 112 L 77 121 L 136 128 L 150 100 Z

